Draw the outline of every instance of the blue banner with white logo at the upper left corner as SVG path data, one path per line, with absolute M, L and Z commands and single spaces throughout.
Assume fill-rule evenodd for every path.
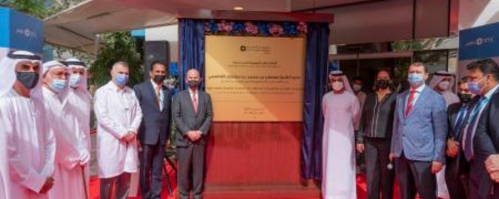
M 0 32 L 0 47 L 43 52 L 43 22 L 39 19 L 0 7 Z

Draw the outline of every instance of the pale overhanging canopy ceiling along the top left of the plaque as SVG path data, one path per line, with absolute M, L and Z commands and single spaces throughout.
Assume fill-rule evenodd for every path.
M 315 0 L 315 6 L 370 0 Z M 203 10 L 289 12 L 312 8 L 312 0 L 86 0 L 44 20 L 45 40 L 92 52 L 98 33 L 175 24 L 180 13 Z

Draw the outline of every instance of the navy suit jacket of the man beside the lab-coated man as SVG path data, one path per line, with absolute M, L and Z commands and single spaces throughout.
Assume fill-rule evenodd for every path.
M 150 80 L 133 87 L 142 108 L 142 122 L 139 127 L 139 140 L 142 144 L 166 144 L 170 137 L 170 106 L 172 96 L 165 86 L 163 92 L 163 110 L 156 103 L 156 91 Z

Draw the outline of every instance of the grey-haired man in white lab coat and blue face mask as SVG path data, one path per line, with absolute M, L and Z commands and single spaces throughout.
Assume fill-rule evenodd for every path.
M 111 70 L 112 80 L 95 93 L 101 199 L 110 199 L 113 187 L 116 187 L 116 199 L 126 199 L 130 174 L 138 172 L 136 137 L 142 110 L 134 91 L 125 86 L 128 71 L 127 63 L 115 63 Z

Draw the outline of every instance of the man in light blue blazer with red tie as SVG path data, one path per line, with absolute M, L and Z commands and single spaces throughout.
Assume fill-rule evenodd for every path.
M 409 66 L 410 88 L 397 97 L 390 160 L 401 199 L 437 199 L 436 174 L 445 164 L 447 108 L 444 97 L 425 85 L 423 63 Z

